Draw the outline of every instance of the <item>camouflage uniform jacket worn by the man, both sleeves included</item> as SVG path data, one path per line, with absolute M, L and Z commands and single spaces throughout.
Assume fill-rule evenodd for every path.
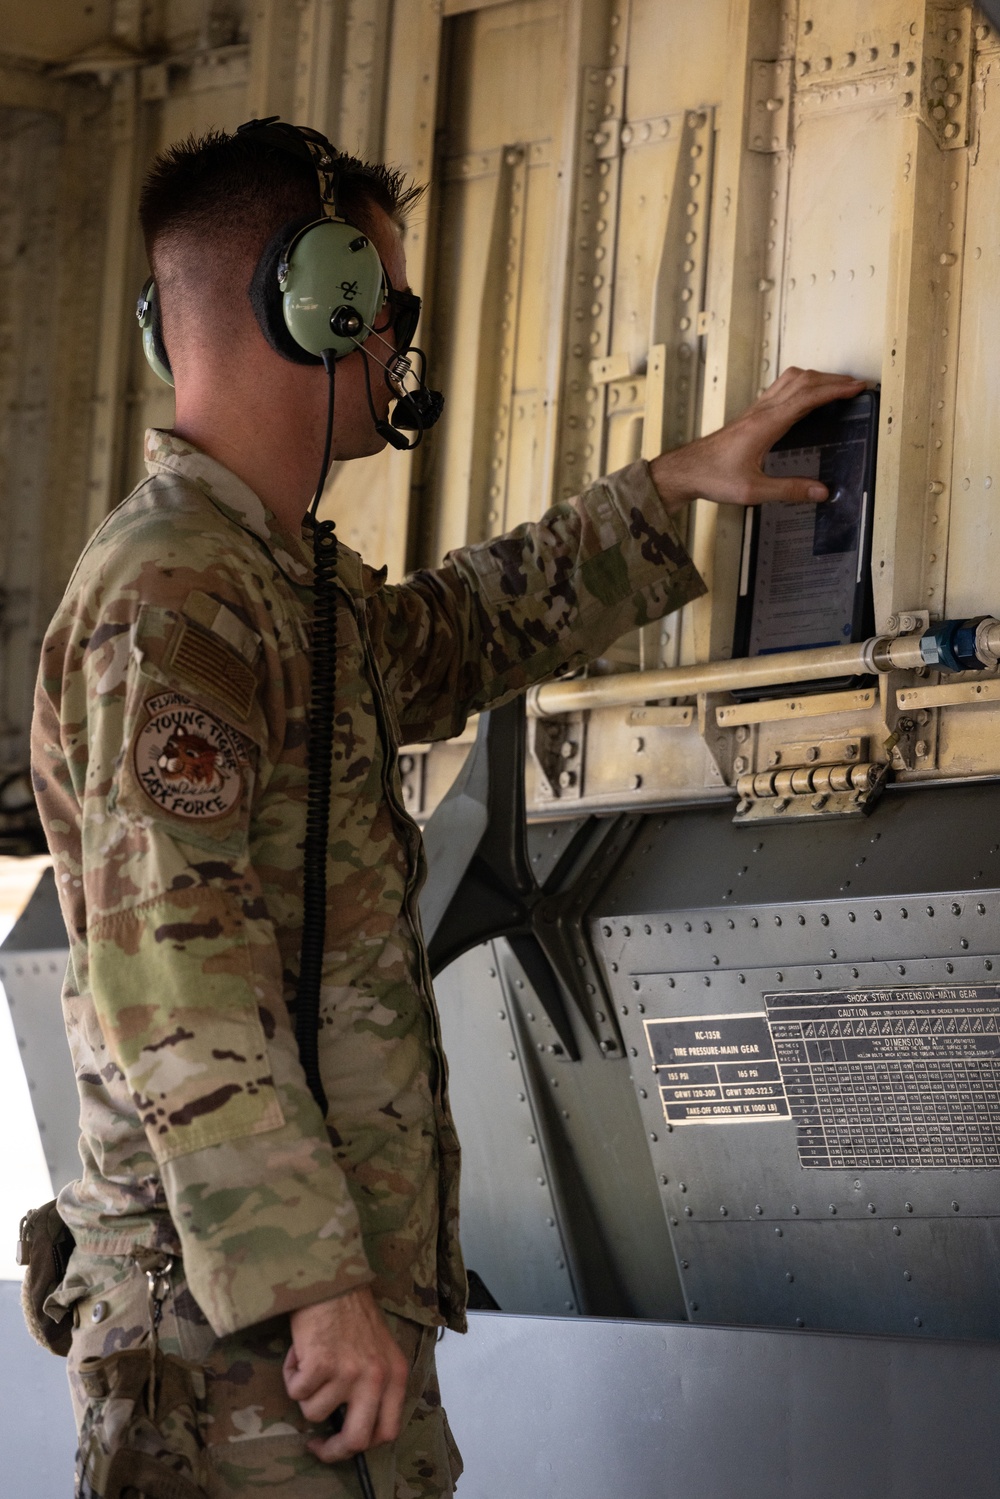
M 703 583 L 645 463 L 396 586 L 340 547 L 324 1127 L 289 1021 L 312 550 L 180 439 L 150 432 L 147 468 L 76 567 L 36 696 L 81 1094 L 60 1211 L 85 1250 L 181 1252 L 220 1336 L 366 1283 L 462 1327 L 459 1147 L 397 750 Z

